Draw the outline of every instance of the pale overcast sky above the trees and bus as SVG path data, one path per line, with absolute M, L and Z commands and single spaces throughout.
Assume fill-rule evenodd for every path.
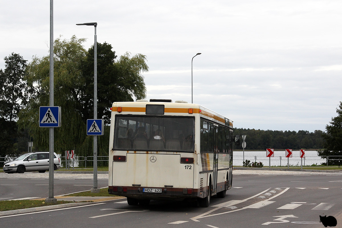
M 0 68 L 49 55 L 50 2 L 0 3 Z M 193 60 L 194 103 L 236 128 L 325 131 L 342 101 L 340 0 L 55 0 L 53 21 L 54 39 L 88 50 L 94 27 L 76 24 L 97 22 L 97 42 L 146 55 L 147 99 L 191 103 Z

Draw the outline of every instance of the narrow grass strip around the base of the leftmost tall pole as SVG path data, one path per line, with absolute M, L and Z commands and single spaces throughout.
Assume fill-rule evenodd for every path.
M 45 203 L 45 200 L 3 200 L 0 201 L 0 211 L 11 211 L 39 206 L 50 206 L 57 204 L 75 203 L 74 201 L 57 201 L 56 203 Z

